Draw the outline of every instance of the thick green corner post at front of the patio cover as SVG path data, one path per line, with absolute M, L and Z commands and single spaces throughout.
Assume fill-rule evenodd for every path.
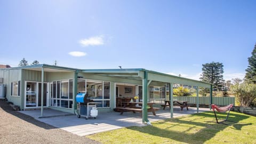
M 144 78 L 142 80 L 142 123 L 148 122 L 148 72 L 144 71 Z

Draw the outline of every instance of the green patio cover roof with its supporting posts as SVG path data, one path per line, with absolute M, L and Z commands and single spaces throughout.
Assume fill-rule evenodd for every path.
M 93 75 L 109 76 L 116 78 L 125 78 L 127 81 L 129 79 L 142 81 L 142 122 L 147 123 L 148 114 L 147 114 L 147 101 L 148 101 L 148 86 L 151 85 L 169 85 L 169 95 L 170 95 L 170 113 L 171 118 L 173 118 L 173 84 L 185 84 L 197 87 L 197 112 L 199 107 L 198 99 L 198 87 L 206 87 L 210 89 L 210 97 L 212 104 L 212 84 L 196 81 L 194 79 L 188 79 L 178 76 L 173 76 L 169 74 L 159 73 L 156 71 L 146 70 L 142 68 L 138 69 L 86 69 L 82 70 L 82 73 L 91 73 Z

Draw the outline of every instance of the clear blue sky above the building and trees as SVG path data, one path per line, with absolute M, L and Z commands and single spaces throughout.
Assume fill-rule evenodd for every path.
M 22 58 L 79 69 L 145 68 L 199 79 L 221 62 L 244 78 L 256 1 L 0 0 L 0 64 Z

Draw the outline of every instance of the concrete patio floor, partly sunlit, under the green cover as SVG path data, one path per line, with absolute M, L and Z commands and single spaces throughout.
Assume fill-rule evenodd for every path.
M 210 109 L 199 108 L 199 113 L 208 110 Z M 173 117 L 175 118 L 194 114 L 196 113 L 196 108 L 190 107 L 189 110 L 185 109 L 181 111 L 179 107 L 174 107 L 173 111 Z M 36 118 L 38 121 L 50 124 L 79 136 L 120 129 L 122 127 L 145 126 L 145 124 L 142 123 L 140 113 L 133 114 L 132 112 L 125 112 L 123 115 L 120 115 L 120 113 L 115 111 L 109 113 L 99 113 L 96 119 L 85 119 L 85 117 L 77 118 L 77 116 L 74 114 L 64 113 L 62 111 L 53 109 L 44 109 L 43 117 L 40 117 L 41 110 L 26 110 L 20 111 L 20 113 L 29 115 Z M 152 115 L 152 113 L 148 113 L 148 119 L 150 122 L 159 121 L 161 119 L 170 117 L 171 114 L 169 108 L 156 111 L 156 116 Z

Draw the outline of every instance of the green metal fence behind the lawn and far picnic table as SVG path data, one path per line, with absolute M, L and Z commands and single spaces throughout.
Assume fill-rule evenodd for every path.
M 211 100 L 210 97 L 198 97 L 199 104 L 209 105 Z M 196 104 L 196 97 L 173 97 L 173 100 L 184 100 L 189 101 L 190 104 Z M 218 106 L 227 106 L 233 104 L 235 106 L 235 97 L 212 97 L 212 103 Z

